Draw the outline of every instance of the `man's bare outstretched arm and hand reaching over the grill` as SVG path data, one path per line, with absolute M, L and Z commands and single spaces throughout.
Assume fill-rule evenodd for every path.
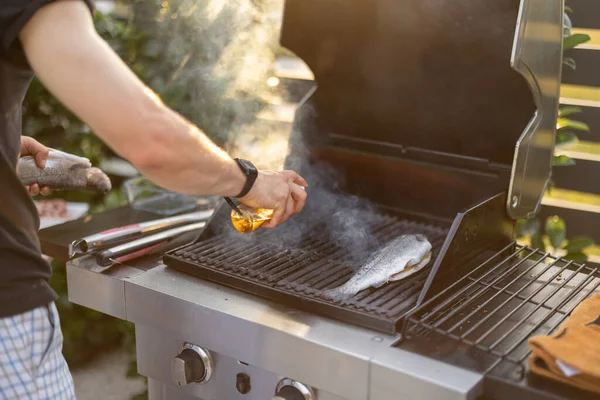
M 108 146 L 156 184 L 186 194 L 237 195 L 245 177 L 205 134 L 165 106 L 96 33 L 83 1 L 43 6 L 20 40 L 42 83 Z M 261 171 L 242 202 L 274 208 L 273 227 L 299 212 L 307 183 Z

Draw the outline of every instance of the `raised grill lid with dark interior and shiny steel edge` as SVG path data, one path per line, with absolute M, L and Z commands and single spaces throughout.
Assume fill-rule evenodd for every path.
M 296 131 L 311 145 L 512 168 L 509 214 L 536 212 L 562 62 L 562 1 L 541 2 L 287 0 L 281 43 L 318 86 Z

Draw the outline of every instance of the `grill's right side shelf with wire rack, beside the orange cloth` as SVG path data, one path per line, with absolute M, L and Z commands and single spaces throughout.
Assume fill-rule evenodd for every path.
M 407 313 L 397 345 L 423 352 L 427 343 L 431 357 L 484 373 L 486 394 L 496 400 L 589 399 L 533 376 L 527 340 L 552 334 L 599 288 L 596 268 L 511 243 Z M 465 350 L 443 353 L 457 346 Z

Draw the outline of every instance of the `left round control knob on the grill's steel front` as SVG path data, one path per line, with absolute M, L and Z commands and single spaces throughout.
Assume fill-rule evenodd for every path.
M 171 374 L 179 386 L 208 382 L 212 375 L 210 354 L 196 345 L 186 343 L 171 360 Z

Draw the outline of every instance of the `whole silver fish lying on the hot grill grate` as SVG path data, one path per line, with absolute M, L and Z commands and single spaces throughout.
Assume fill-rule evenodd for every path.
M 406 278 L 429 263 L 431 247 L 424 235 L 401 235 L 373 253 L 350 280 L 323 296 L 337 303 L 369 287 Z

